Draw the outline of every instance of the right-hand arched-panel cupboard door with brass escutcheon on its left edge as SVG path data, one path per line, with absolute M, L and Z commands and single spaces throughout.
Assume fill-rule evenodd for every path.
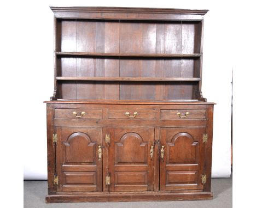
M 160 190 L 203 189 L 203 134 L 205 127 L 160 129 Z

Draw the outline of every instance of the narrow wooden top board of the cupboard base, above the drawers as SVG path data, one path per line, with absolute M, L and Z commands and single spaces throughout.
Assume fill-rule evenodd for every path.
M 216 105 L 214 102 L 203 102 L 198 100 L 51 100 L 44 103 L 77 103 L 77 104 L 137 104 L 137 105 Z

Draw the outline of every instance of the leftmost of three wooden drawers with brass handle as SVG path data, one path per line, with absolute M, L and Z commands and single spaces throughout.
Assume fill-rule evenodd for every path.
M 102 109 L 55 109 L 55 118 L 102 119 Z

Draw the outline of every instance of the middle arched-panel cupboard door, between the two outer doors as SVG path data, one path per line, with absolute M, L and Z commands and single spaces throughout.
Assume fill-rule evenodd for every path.
M 153 191 L 154 128 L 109 128 L 109 134 L 109 191 Z

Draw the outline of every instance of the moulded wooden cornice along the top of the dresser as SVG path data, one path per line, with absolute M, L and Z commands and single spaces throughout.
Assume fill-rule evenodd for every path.
M 206 9 L 50 7 L 57 18 L 109 20 L 202 20 Z

